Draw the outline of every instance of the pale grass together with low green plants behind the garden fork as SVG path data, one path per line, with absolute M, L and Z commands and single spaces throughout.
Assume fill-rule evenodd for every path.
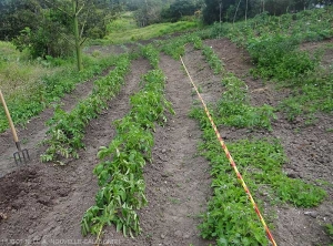
M 0 86 L 14 124 L 24 125 L 50 103 L 71 92 L 77 83 L 84 82 L 114 63 L 114 57 L 84 55 L 84 70 L 77 71 L 73 59 L 29 60 L 14 45 L 0 42 Z M 0 107 L 0 132 L 9 127 Z

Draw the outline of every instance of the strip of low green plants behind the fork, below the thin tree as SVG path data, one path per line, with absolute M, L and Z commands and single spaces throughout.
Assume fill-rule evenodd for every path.
M 16 124 L 26 124 L 32 116 L 38 115 L 51 102 L 59 101 L 65 93 L 70 93 L 78 83 L 100 74 L 104 69 L 113 65 L 114 57 L 109 57 L 100 61 L 85 61 L 85 69 L 78 72 L 74 69 L 61 70 L 51 75 L 42 78 L 41 82 L 36 84 L 31 96 L 16 96 L 14 100 L 8 100 L 8 107 Z M 9 127 L 3 109 L 0 107 L 0 132 Z

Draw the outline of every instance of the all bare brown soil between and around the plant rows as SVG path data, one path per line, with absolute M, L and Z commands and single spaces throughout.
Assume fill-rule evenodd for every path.
M 249 75 L 252 64 L 248 54 L 230 41 L 209 40 L 206 44 L 214 49 L 228 70 L 246 82 L 253 105 L 266 103 L 275 106 L 289 95 L 287 91 L 276 92 L 272 84 L 253 80 Z M 204 100 L 216 102 L 223 90 L 221 78 L 213 75 L 200 51 L 186 47 L 183 59 Z M 149 204 L 139 212 L 142 234 L 137 238 L 124 238 L 113 226 L 109 226 L 103 236 L 104 243 L 107 242 L 104 245 L 204 246 L 212 243 L 202 239 L 198 230 L 201 222 L 198 215 L 205 211 L 212 192 L 209 163 L 196 155 L 201 131 L 198 123 L 188 116 L 191 106 L 198 101 L 196 95 L 180 61 L 162 54 L 160 66 L 168 78 L 165 93 L 173 103 L 175 115 L 169 115 L 164 127 L 157 127 L 153 162 L 144 167 Z M 69 239 L 77 243 L 91 239 L 81 245 L 93 245 L 94 237 L 81 236 L 80 221 L 87 208 L 94 204 L 98 191 L 97 178 L 92 174 L 98 163 L 98 147 L 107 145 L 114 136 L 114 127 L 110 123 L 129 111 L 129 96 L 139 90 L 140 76 L 149 69 L 147 60 L 133 61 L 127 84 L 119 96 L 110 102 L 109 110 L 87 127 L 87 150 L 81 151 L 80 158 L 71 161 L 67 166 L 43 164 L 38 158 L 43 148 L 37 144 L 44 136 L 44 122 L 52 115 L 51 110 L 31 120 L 26 130 L 20 130 L 21 139 L 28 140 L 26 147 L 29 148 L 32 161 L 0 178 L 0 245 L 24 245 L 26 239 L 26 243 L 42 245 L 70 245 Z M 65 110 L 71 109 L 77 98 L 84 98 L 90 93 L 89 83 L 80 86 L 82 88 L 75 92 L 80 95 L 74 96 L 72 93 L 63 100 Z M 333 133 L 326 131 L 332 129 L 333 120 L 332 116 L 322 114 L 317 117 L 315 125 L 305 127 L 303 119 L 290 123 L 279 114 L 279 120 L 273 122 L 272 132 L 249 133 L 233 127 L 220 129 L 226 142 L 252 135 L 280 139 L 290 160 L 284 166 L 286 173 L 311 183 L 322 180 L 330 184 L 324 186 L 329 196 L 319 207 L 265 207 L 265 211 L 276 215 L 273 219 L 273 235 L 278 245 L 330 243 L 323 225 L 333 222 Z M 16 150 L 9 132 L 1 134 L 0 141 L 0 172 L 7 173 L 14 170 L 9 165 L 14 166 L 10 156 Z M 8 239 L 22 240 L 11 244 Z M 59 242 L 60 239 L 65 242 Z

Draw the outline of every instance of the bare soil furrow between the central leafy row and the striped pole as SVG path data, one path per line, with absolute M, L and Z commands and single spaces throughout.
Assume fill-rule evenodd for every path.
M 209 245 L 198 230 L 198 215 L 205 212 L 211 181 L 208 162 L 195 155 L 201 133 L 188 116 L 191 85 L 180 61 L 161 55 L 160 68 L 168 78 L 165 93 L 175 115 L 169 116 L 164 127 L 157 127 L 153 162 L 144 167 L 149 204 L 139 212 L 143 232 L 124 245 Z M 118 238 L 114 236 L 110 232 L 105 238 Z

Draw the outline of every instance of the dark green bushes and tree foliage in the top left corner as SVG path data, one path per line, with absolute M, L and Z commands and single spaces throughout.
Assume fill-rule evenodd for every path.
M 33 58 L 64 57 L 77 50 L 78 61 L 82 37 L 102 38 L 110 14 L 98 0 L 8 0 L 0 7 L 1 40 L 13 40 Z

